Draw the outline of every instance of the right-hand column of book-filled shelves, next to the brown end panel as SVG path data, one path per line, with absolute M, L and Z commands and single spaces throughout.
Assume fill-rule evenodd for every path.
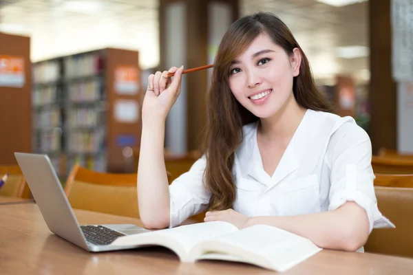
M 107 170 L 104 59 L 105 51 L 63 58 L 63 81 L 68 96 L 65 102 L 67 170 L 76 163 L 92 170 Z

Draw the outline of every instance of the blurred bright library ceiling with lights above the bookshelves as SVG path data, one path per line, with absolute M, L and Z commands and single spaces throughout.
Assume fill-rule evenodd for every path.
M 368 3 L 334 7 L 316 0 L 240 0 L 240 14 L 259 10 L 283 19 L 319 83 L 335 74 L 369 77 L 368 56 L 340 58 L 338 47 L 368 47 Z M 32 61 L 121 47 L 140 52 L 142 68 L 159 62 L 158 0 L 0 0 L 0 30 L 30 34 Z M 368 52 L 367 52 L 368 54 Z

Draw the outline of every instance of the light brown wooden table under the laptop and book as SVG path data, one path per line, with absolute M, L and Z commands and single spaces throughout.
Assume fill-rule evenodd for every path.
M 138 219 L 75 210 L 80 223 L 134 223 Z M 180 263 L 164 248 L 89 253 L 52 234 L 35 203 L 0 206 L 1 274 L 275 274 L 221 261 Z M 323 250 L 284 274 L 413 274 L 413 259 Z

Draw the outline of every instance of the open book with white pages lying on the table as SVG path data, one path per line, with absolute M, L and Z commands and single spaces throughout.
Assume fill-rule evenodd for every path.
M 270 225 L 238 230 L 231 223 L 209 221 L 121 236 L 112 246 L 160 245 L 183 262 L 222 260 L 250 263 L 283 272 L 321 250 L 310 240 Z

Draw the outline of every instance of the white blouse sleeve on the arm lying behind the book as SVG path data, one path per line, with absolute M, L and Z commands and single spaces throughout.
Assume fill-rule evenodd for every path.
M 346 122 L 332 135 L 326 157 L 331 169 L 328 210 L 354 201 L 366 210 L 370 232 L 373 228 L 394 228 L 377 207 L 372 145 L 366 131 L 355 122 Z

